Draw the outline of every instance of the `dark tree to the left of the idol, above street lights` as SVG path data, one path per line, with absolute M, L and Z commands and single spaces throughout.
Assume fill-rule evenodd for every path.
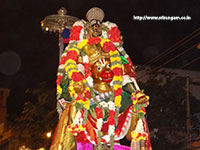
M 58 121 L 55 88 L 43 82 L 37 88 L 27 89 L 26 95 L 28 100 L 18 122 L 22 133 L 28 136 L 22 135 L 21 142 L 29 148 L 48 148 L 51 138 L 47 139 L 46 133 L 53 132 Z

